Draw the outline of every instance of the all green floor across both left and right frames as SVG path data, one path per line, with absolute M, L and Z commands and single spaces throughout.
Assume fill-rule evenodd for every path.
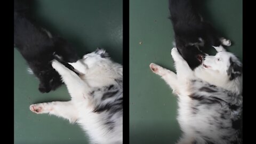
M 203 0 L 200 0 L 203 2 Z M 96 47 L 106 49 L 122 63 L 122 1 L 35 1 L 34 15 L 50 31 L 68 39 L 83 55 Z M 242 1 L 202 3 L 202 15 L 233 42 L 228 51 L 242 60 Z M 180 137 L 177 99 L 149 63 L 174 70 L 170 52 L 173 30 L 167 0 L 130 0 L 130 143 L 174 143 Z M 212 50 L 210 53 L 214 53 Z M 14 50 L 14 143 L 86 143 L 76 124 L 55 116 L 31 113 L 37 102 L 69 100 L 66 86 L 47 94 L 27 74 L 25 60 Z

